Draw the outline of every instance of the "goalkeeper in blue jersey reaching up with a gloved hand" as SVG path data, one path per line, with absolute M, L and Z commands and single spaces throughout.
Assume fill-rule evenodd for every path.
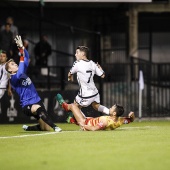
M 11 59 L 6 63 L 5 69 L 11 75 L 10 83 L 12 88 L 20 96 L 23 113 L 27 116 L 33 116 L 39 123 L 34 126 L 24 125 L 23 129 L 26 131 L 49 131 L 53 128 L 56 132 L 62 131 L 49 117 L 31 79 L 26 75 L 29 54 L 23 46 L 21 36 L 17 35 L 14 40 L 20 52 L 19 66 Z

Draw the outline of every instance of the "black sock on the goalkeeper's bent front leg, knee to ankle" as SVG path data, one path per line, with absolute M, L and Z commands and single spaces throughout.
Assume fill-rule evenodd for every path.
M 45 109 L 39 107 L 36 112 L 45 123 L 47 123 L 50 127 L 55 129 L 56 125 L 53 123 Z

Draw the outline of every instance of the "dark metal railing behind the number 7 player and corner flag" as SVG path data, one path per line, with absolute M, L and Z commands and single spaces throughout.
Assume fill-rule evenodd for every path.
M 170 116 L 170 64 L 151 64 L 147 62 L 115 63 L 107 64 L 107 68 L 104 80 L 95 77 L 96 86 L 102 93 L 103 105 L 111 107 L 114 103 L 120 103 L 127 112 L 133 110 L 138 116 L 139 70 L 142 70 L 145 84 L 142 91 L 143 116 Z M 33 71 L 33 68 L 30 69 Z M 67 81 L 67 73 L 70 67 L 60 66 L 36 69 L 40 73 L 32 74 L 31 78 L 38 89 L 58 89 L 63 91 L 79 89 L 76 81 L 72 84 Z M 102 86 L 100 86 L 101 83 Z

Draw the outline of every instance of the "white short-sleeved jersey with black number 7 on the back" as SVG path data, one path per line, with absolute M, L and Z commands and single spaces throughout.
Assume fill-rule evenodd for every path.
M 93 77 L 102 76 L 104 71 L 101 70 L 96 63 L 92 60 L 77 60 L 74 62 L 71 70 L 71 74 L 77 73 L 77 81 L 80 86 L 79 96 L 80 97 L 91 97 L 98 93 L 95 86 Z

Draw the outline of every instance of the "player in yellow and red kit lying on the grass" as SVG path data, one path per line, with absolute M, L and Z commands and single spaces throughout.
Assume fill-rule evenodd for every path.
M 124 113 L 124 108 L 117 104 L 109 109 L 110 116 L 92 118 L 85 117 L 76 104 L 67 104 L 60 94 L 57 94 L 57 100 L 66 111 L 72 111 L 77 124 L 85 131 L 114 130 L 122 124 L 133 122 L 135 119 L 134 112 L 130 112 L 128 117 L 120 117 Z

